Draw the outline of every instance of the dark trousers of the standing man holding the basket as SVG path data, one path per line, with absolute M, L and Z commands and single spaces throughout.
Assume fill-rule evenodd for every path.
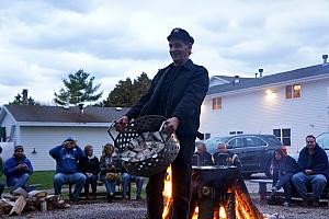
M 195 137 L 179 138 L 180 151 L 171 164 L 172 170 L 172 219 L 188 219 L 191 199 L 192 155 Z M 149 219 L 161 219 L 163 210 L 162 191 L 166 171 L 149 177 L 146 186 Z

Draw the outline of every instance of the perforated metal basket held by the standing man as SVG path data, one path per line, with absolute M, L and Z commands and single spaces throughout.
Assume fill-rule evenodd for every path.
M 167 120 L 163 116 L 148 115 L 139 117 L 132 123 L 114 138 L 109 129 L 109 135 L 114 141 L 115 151 L 123 161 L 123 166 L 132 175 L 151 176 L 161 171 L 164 171 L 177 158 L 180 146 L 175 136 L 166 137 L 166 134 L 160 130 L 163 122 Z M 140 160 L 123 160 L 123 154 L 132 148 L 132 141 L 140 138 L 145 132 L 159 131 L 163 148 L 151 157 L 141 158 Z M 164 135 L 163 135 L 164 134 Z M 148 142 L 143 142 L 148 143 Z

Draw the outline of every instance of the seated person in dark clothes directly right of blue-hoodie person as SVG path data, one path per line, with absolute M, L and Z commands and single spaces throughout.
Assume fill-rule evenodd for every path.
M 97 189 L 98 189 L 98 180 L 100 173 L 100 162 L 99 159 L 93 155 L 93 148 L 92 146 L 84 147 L 84 154 L 86 158 L 79 161 L 79 170 L 81 173 L 86 175 L 86 183 L 84 183 L 84 196 L 86 199 L 90 199 L 89 195 L 89 184 L 91 186 L 91 198 L 95 199 Z

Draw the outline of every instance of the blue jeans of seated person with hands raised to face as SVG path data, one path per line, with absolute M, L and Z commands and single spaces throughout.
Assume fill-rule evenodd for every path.
M 72 173 L 72 174 L 56 173 L 54 175 L 55 195 L 61 194 L 61 186 L 64 184 L 70 183 L 70 184 L 76 184 L 72 198 L 78 198 L 82 191 L 84 182 L 86 182 L 86 175 L 82 173 Z

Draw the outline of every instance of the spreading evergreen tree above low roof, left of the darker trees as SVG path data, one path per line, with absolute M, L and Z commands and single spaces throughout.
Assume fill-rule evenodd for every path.
M 68 79 L 63 79 L 65 88 L 61 88 L 58 93 L 55 94 L 55 103 L 58 105 L 78 104 L 81 102 L 95 102 L 103 92 L 94 94 L 101 84 L 93 85 L 94 77 L 89 78 L 89 73 L 82 69 L 75 74 L 69 74 Z

